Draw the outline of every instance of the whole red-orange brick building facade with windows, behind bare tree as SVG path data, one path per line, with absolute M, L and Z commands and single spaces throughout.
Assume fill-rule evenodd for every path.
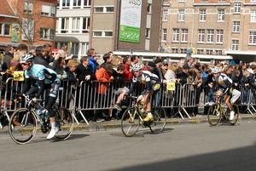
M 0 47 L 54 45 L 56 4 L 56 0 L 2 0 Z

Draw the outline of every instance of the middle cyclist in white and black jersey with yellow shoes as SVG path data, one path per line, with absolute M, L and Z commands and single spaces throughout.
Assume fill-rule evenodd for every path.
M 151 103 L 150 96 L 154 97 L 154 94 L 160 89 L 160 79 L 153 73 L 155 64 L 154 62 L 148 62 L 148 71 L 143 71 L 143 66 L 139 63 L 132 66 L 133 71 L 133 79 L 131 88 L 129 89 L 127 94 L 131 94 L 134 92 L 135 88 L 138 87 L 138 83 L 144 83 L 145 89 L 142 94 L 137 98 L 137 101 L 140 101 L 143 105 L 143 110 L 148 112 L 147 117 L 143 119 L 144 122 L 148 122 L 153 119 L 153 115 L 151 113 Z

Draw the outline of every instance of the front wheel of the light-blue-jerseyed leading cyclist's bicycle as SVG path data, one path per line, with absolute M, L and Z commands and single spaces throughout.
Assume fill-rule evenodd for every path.
M 37 132 L 36 114 L 20 108 L 10 117 L 9 135 L 15 143 L 23 145 L 32 140 Z

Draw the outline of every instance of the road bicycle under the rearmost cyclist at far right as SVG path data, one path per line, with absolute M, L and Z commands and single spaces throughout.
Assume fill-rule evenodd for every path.
M 234 118 L 230 120 L 230 111 L 225 110 L 223 103 L 223 96 L 216 95 L 216 100 L 215 104 L 212 104 L 211 107 L 209 108 L 208 111 L 208 123 L 211 126 L 217 126 L 218 123 L 220 123 L 221 119 L 224 117 L 225 119 L 228 120 L 230 125 L 235 125 L 239 119 L 239 109 L 236 104 L 231 104 L 232 105 L 232 111 L 235 112 Z

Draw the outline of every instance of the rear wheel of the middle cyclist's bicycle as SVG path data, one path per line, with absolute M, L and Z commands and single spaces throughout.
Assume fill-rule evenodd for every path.
M 152 133 L 159 134 L 166 126 L 166 111 L 161 106 L 153 106 L 151 109 L 154 121 L 149 124 Z

